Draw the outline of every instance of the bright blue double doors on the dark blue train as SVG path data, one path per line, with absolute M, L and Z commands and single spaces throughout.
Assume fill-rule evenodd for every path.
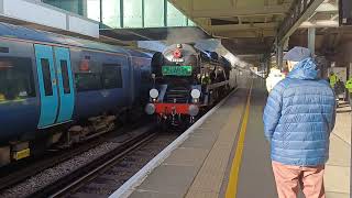
M 34 48 L 41 96 L 41 117 L 37 127 L 43 129 L 72 119 L 73 75 L 67 48 L 53 50 L 52 46 L 37 44 Z

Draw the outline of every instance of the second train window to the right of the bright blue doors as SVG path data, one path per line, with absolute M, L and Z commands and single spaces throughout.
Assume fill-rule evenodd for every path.
M 103 64 L 102 82 L 106 89 L 122 88 L 121 65 Z

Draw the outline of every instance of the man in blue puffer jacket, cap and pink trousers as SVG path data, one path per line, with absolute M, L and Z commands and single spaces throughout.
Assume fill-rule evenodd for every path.
M 263 116 L 277 193 L 280 198 L 297 197 L 300 183 L 307 198 L 323 198 L 334 94 L 329 82 L 318 79 L 308 48 L 295 47 L 284 59 L 290 73 L 270 92 Z

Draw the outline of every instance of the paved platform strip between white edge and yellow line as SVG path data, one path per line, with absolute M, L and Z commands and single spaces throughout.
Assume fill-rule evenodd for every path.
M 231 96 L 130 197 L 219 195 L 246 94 L 246 89 L 240 89 Z

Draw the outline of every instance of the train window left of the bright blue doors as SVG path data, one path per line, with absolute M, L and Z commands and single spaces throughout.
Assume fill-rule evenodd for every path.
M 32 59 L 0 57 L 0 102 L 35 97 Z

